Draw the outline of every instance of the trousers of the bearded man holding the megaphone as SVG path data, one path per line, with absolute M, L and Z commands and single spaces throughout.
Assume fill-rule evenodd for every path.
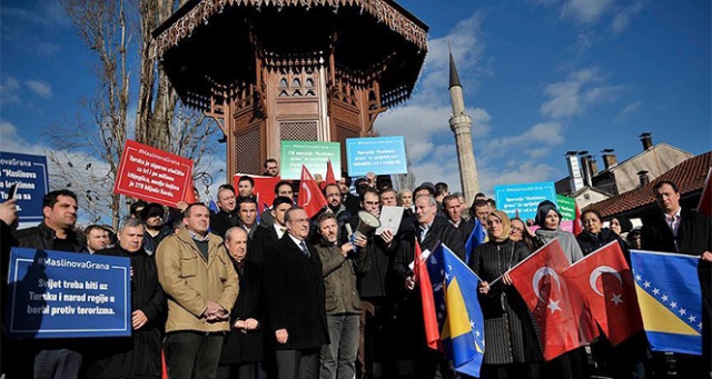
M 322 347 L 320 379 L 352 379 L 358 356 L 359 313 L 328 315 L 332 343 Z

